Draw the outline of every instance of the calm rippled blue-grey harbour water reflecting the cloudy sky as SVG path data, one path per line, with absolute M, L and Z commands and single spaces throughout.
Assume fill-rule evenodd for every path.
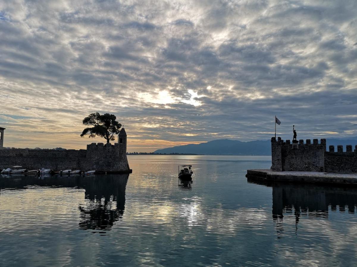
M 130 175 L 0 176 L 0 266 L 356 266 L 355 188 L 247 181 L 270 157 L 128 158 Z

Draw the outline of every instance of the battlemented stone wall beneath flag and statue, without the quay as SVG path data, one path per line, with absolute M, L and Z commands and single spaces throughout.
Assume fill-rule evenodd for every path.
M 326 151 L 326 139 L 299 140 L 292 144 L 290 140 L 278 137 L 271 138 L 272 170 L 273 171 L 310 171 L 310 172 L 338 172 L 357 173 L 357 146 L 352 151 L 352 146 L 330 146 Z

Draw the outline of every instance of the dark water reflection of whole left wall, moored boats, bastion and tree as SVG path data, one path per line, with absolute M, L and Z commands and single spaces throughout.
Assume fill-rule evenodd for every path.
M 84 188 L 85 201 L 79 205 L 80 229 L 111 230 L 116 221 L 122 219 L 125 205 L 125 189 L 129 174 L 110 174 L 98 176 L 21 176 L 1 177 L 1 189 L 26 189 L 29 185 L 45 187 Z M 96 232 L 96 231 L 93 231 Z

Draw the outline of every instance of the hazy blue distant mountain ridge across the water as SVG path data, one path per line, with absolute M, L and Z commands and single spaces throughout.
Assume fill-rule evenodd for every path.
M 320 139 L 320 138 L 319 138 Z M 305 140 L 304 140 L 305 141 Z M 311 140 L 312 142 L 312 140 Z M 320 140 L 319 140 L 320 142 Z M 353 150 L 357 145 L 357 136 L 347 138 L 326 139 L 327 150 L 328 146 L 334 145 L 337 151 L 337 145 L 343 145 L 343 151 L 346 151 L 346 145 L 352 145 Z M 175 146 L 156 150 L 154 153 L 193 153 L 199 155 L 271 155 L 270 140 L 256 140 L 250 142 L 242 142 L 238 140 L 220 139 L 206 143 L 190 144 L 184 146 Z

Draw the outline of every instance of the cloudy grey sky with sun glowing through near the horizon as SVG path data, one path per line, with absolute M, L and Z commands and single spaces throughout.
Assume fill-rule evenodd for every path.
M 357 1 L 0 1 L 5 147 L 357 136 Z

